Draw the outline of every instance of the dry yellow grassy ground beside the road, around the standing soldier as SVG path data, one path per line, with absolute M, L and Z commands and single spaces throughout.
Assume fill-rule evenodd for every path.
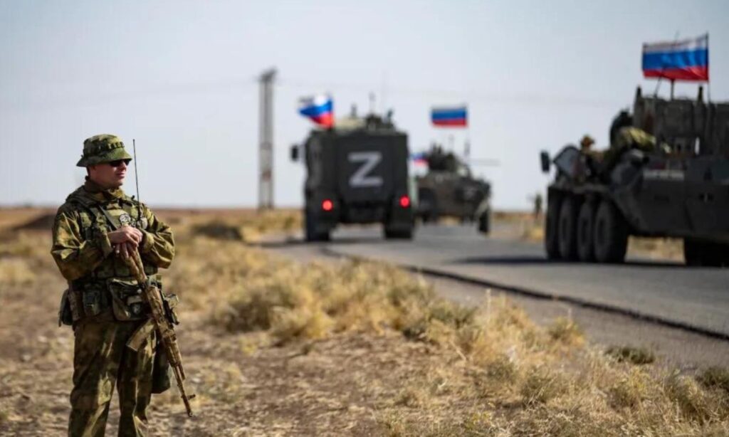
M 243 229 L 249 240 L 246 229 L 292 227 L 295 218 L 270 215 L 177 219 L 178 255 L 165 288 L 182 297 L 179 335 L 200 418 L 179 428 L 174 391 L 155 397 L 153 420 L 164 435 L 729 434 L 726 369 L 694 376 L 634 366 L 646 360 L 623 349 L 602 353 L 569 318 L 537 326 L 503 295 L 461 307 L 438 298 L 423 277 L 387 264 L 295 264 L 227 233 Z M 0 286 L 12 283 L 14 296 L 42 296 L 46 283 L 23 275 L 55 273 L 48 258 L 47 235 L 5 240 L 0 262 L 15 273 L 1 270 Z M 50 294 L 47 306 L 57 299 Z M 26 318 L 16 319 L 1 326 L 13 329 Z M 0 433 L 38 429 L 23 418 L 28 413 L 44 414 L 44 423 L 65 419 L 58 403 L 68 387 L 48 387 L 58 374 L 34 385 L 69 363 L 64 335 L 28 342 L 30 358 L 0 360 L 8 375 L 0 393 L 9 393 L 0 398 Z M 4 347 L 7 353 L 16 345 Z M 61 393 L 61 401 L 44 393 Z

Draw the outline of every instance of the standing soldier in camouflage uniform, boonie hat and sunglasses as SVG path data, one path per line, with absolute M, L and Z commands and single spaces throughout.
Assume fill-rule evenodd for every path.
M 69 283 L 59 315 L 75 336 L 69 436 L 104 436 L 114 385 L 119 435 L 144 436 L 152 393 L 166 388 L 153 387 L 155 357 L 163 354 L 155 354 L 153 330 L 137 331 L 149 307 L 122 256 L 139 250 L 145 273 L 158 283 L 157 269 L 170 265 L 174 240 L 146 205 L 120 189 L 130 160 L 114 135 L 84 141 L 77 165 L 87 168 L 86 182 L 66 198 L 53 226 L 51 253 Z M 140 335 L 146 339 L 133 350 L 128 342 Z

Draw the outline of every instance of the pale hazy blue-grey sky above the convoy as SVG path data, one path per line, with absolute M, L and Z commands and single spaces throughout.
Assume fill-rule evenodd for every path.
M 711 98 L 729 100 L 728 19 L 728 1 L 0 0 L 0 205 L 58 205 L 98 133 L 136 138 L 145 202 L 255 205 L 256 78 L 276 66 L 276 204 L 302 202 L 297 99 L 330 92 L 343 115 L 372 91 L 411 151 L 469 138 L 501 163 L 474 169 L 496 208 L 528 208 L 548 182 L 540 149 L 584 133 L 607 145 L 635 87 L 655 90 L 643 42 L 708 31 Z M 431 106 L 456 103 L 468 130 L 430 125 Z

